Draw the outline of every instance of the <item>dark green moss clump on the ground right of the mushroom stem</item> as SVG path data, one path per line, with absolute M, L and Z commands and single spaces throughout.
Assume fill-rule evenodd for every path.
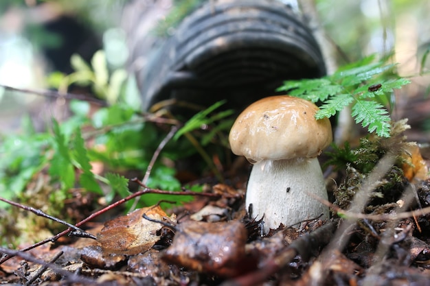
M 334 191 L 335 205 L 348 209 L 370 171 L 385 154 L 392 153 L 398 156 L 398 162 L 378 182 L 378 187 L 373 191 L 366 210 L 372 212 L 384 205 L 392 208 L 393 203 L 400 198 L 408 184 L 403 169 L 399 167 L 403 164 L 402 154 L 407 152 L 407 146 L 410 145 L 402 135 L 407 128 L 406 121 L 399 121 L 394 123 L 392 136 L 389 139 L 367 136 L 360 140 L 359 146 L 355 149 L 350 148 L 347 143 L 343 148 L 335 147 L 334 151 L 328 154 L 330 164 L 334 164 L 338 170 L 344 168 L 346 171 L 343 182 Z M 342 168 L 342 166 L 345 167 Z

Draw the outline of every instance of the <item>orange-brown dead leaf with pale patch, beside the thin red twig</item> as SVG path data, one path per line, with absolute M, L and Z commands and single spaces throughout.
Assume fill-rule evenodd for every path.
M 154 246 L 160 239 L 157 231 L 163 225 L 158 222 L 150 222 L 143 217 L 144 214 L 159 222 L 168 224 L 176 222 L 174 215 L 168 217 L 159 206 L 140 208 L 104 224 L 104 228 L 97 238 L 102 249 L 111 253 L 137 254 Z

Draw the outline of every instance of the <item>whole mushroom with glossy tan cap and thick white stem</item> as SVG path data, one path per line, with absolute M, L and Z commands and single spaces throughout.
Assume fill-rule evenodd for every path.
M 326 184 L 317 156 L 332 142 L 327 118 L 315 119 L 315 104 L 288 95 L 254 102 L 236 119 L 231 151 L 253 164 L 246 194 L 251 217 L 262 219 L 264 233 L 306 219 L 328 218 Z

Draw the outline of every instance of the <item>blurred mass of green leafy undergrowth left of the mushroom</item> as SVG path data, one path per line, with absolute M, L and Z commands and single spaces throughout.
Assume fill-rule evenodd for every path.
M 150 166 L 152 156 L 168 133 L 168 126 L 157 123 L 163 122 L 157 117 L 146 117 L 137 110 L 139 104 L 128 98 L 135 97 L 133 92 L 128 92 L 133 82 L 128 80 L 128 88 L 123 88 L 127 80 L 124 71 L 109 71 L 101 51 L 95 54 L 91 66 L 78 56 L 73 56 L 71 62 L 76 72 L 71 75 L 54 73 L 49 82 L 63 92 L 71 84 L 91 86 L 99 97 L 109 99 L 110 105 L 94 110 L 89 102 L 72 100 L 69 103 L 71 117 L 63 122 L 52 119 L 45 132 L 35 132 L 32 121 L 25 117 L 19 134 L 8 134 L 1 139 L 3 197 L 25 198 L 28 185 L 38 176 L 44 176 L 52 186 L 46 196 L 58 207 L 63 205 L 63 200 L 71 198 L 73 189 L 104 196 L 106 202 L 111 202 L 115 196 L 124 198 L 129 194 L 126 177 L 130 178 L 131 171 L 133 177 L 142 179 L 148 167 L 152 169 L 146 182 L 148 187 L 179 190 L 181 182 L 176 178 L 176 166 L 172 163 L 196 153 L 205 158 L 216 174 L 210 152 L 227 152 L 223 132 L 231 126 L 231 120 L 227 119 L 231 110 L 216 110 L 223 102 L 202 110 L 185 123 L 175 140 L 161 150 L 159 158 Z M 175 120 L 168 124 L 172 123 L 179 125 Z M 93 163 L 101 164 L 104 171 L 95 174 Z M 202 186 L 188 186 L 188 189 L 199 191 Z M 163 195 L 144 197 L 137 207 L 164 199 Z M 175 198 L 179 204 L 190 199 L 190 196 Z

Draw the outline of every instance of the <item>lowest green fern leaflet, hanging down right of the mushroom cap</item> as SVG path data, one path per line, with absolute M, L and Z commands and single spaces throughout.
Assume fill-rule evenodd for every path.
M 357 124 L 361 123 L 363 128 L 368 126 L 370 133 L 376 132 L 378 136 L 389 137 L 390 119 L 388 111 L 381 104 L 357 99 L 352 106 L 352 117 Z

